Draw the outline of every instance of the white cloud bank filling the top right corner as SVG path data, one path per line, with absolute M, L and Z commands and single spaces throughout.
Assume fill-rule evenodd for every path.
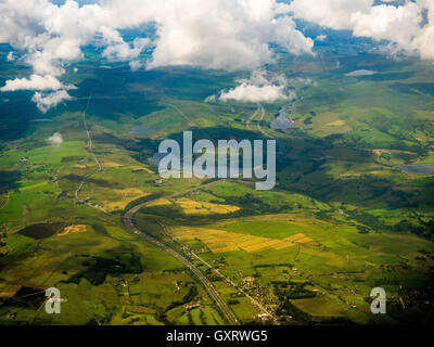
M 356 37 L 387 40 L 392 53 L 417 53 L 434 59 L 434 1 L 294 0 L 295 17 L 332 29 L 353 30 Z M 426 20 L 424 13 L 427 13 Z

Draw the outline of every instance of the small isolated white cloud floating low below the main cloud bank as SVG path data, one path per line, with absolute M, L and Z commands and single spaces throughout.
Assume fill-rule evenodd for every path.
M 283 75 L 273 75 L 265 70 L 252 73 L 248 79 L 240 79 L 240 86 L 212 95 L 206 101 L 241 101 L 241 102 L 275 102 L 295 99 L 293 91 L 288 91 Z

